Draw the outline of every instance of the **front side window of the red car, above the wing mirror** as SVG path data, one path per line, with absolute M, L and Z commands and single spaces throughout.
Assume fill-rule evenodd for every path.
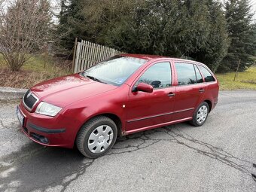
M 150 84 L 154 89 L 170 87 L 172 84 L 171 74 L 171 66 L 169 62 L 158 62 L 147 69 L 136 82 L 136 85 L 139 83 Z

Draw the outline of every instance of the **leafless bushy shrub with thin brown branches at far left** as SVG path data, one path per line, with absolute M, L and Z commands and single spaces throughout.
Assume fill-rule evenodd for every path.
M 31 54 L 40 50 L 49 26 L 47 0 L 15 0 L 8 8 L 0 7 L 0 53 L 11 70 L 19 71 Z

